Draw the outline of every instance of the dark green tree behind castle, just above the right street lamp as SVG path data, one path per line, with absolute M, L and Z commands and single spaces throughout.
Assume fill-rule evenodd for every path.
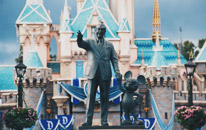
M 195 48 L 195 45 L 192 42 L 188 40 L 184 42 L 183 56 L 185 57 L 186 60 L 189 60 L 190 51 L 192 50 L 194 52 L 194 48 Z

